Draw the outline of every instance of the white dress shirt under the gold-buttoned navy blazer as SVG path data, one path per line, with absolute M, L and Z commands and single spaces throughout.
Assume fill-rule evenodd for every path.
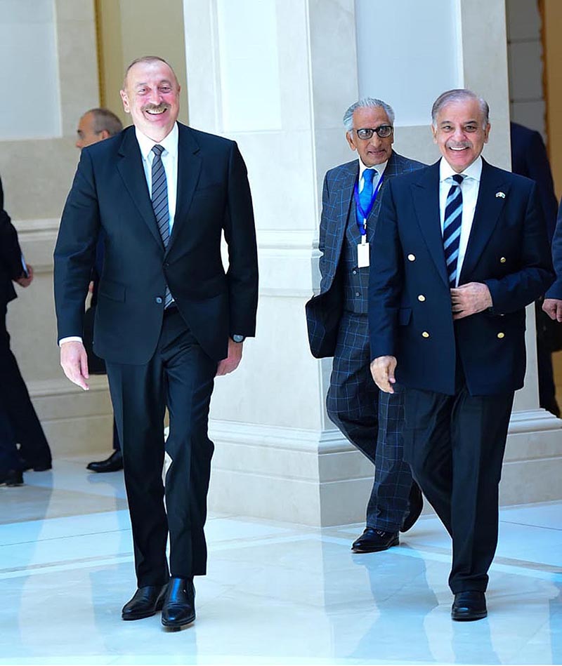
M 443 236 L 443 223 L 445 222 L 445 208 L 447 194 L 451 189 L 454 180 L 452 177 L 457 172 L 454 171 L 446 159 L 441 158 L 439 164 L 439 213 L 441 219 L 441 236 Z M 480 189 L 480 178 L 482 175 L 482 158 L 478 157 L 473 163 L 459 175 L 464 176 L 461 185 L 462 191 L 462 221 L 461 237 L 459 239 L 459 257 L 457 258 L 457 280 L 455 286 L 459 286 L 459 277 L 462 269 L 462 262 L 466 254 L 466 246 L 469 244 L 474 211 L 476 209 L 476 200 L 478 199 L 478 190 Z

